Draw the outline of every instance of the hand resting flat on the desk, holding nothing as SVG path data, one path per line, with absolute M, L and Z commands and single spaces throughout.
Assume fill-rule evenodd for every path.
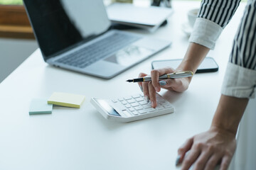
M 220 170 L 225 170 L 228 169 L 235 147 L 233 132 L 212 127 L 191 137 L 178 149 L 176 164 L 182 163 L 182 170 L 189 169 L 192 164 L 194 170 L 215 169 L 220 164 Z

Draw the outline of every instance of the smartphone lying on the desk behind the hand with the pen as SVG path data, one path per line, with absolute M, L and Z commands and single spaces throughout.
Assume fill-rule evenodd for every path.
M 176 69 L 179 64 L 181 64 L 182 59 L 174 59 L 174 60 L 155 60 L 151 62 L 152 69 L 160 69 L 163 67 L 173 67 Z M 203 62 L 200 64 L 196 73 L 203 72 L 217 72 L 218 64 L 215 62 L 213 57 L 206 57 Z

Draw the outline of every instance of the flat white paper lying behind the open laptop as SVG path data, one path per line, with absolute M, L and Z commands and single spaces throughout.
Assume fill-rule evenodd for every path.
M 157 26 L 172 13 L 170 8 L 156 6 L 138 7 L 132 4 L 114 3 L 107 6 L 107 16 L 111 21 Z

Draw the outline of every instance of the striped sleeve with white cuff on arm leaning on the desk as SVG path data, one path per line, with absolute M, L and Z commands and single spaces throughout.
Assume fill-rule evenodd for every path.
M 256 0 L 248 0 L 233 41 L 222 94 L 254 98 L 256 91 Z

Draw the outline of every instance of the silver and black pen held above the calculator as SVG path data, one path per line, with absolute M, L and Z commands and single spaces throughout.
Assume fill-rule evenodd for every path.
M 159 80 L 163 80 L 163 79 L 178 79 L 178 78 L 182 78 L 182 77 L 193 77 L 193 72 L 191 71 L 183 71 L 183 72 L 173 72 L 173 73 L 169 73 L 169 74 L 164 74 L 161 75 L 161 77 L 159 77 Z M 144 82 L 144 81 L 151 81 L 151 77 L 147 76 L 147 77 L 141 77 L 141 78 L 137 78 L 137 79 L 128 79 L 128 82 Z

